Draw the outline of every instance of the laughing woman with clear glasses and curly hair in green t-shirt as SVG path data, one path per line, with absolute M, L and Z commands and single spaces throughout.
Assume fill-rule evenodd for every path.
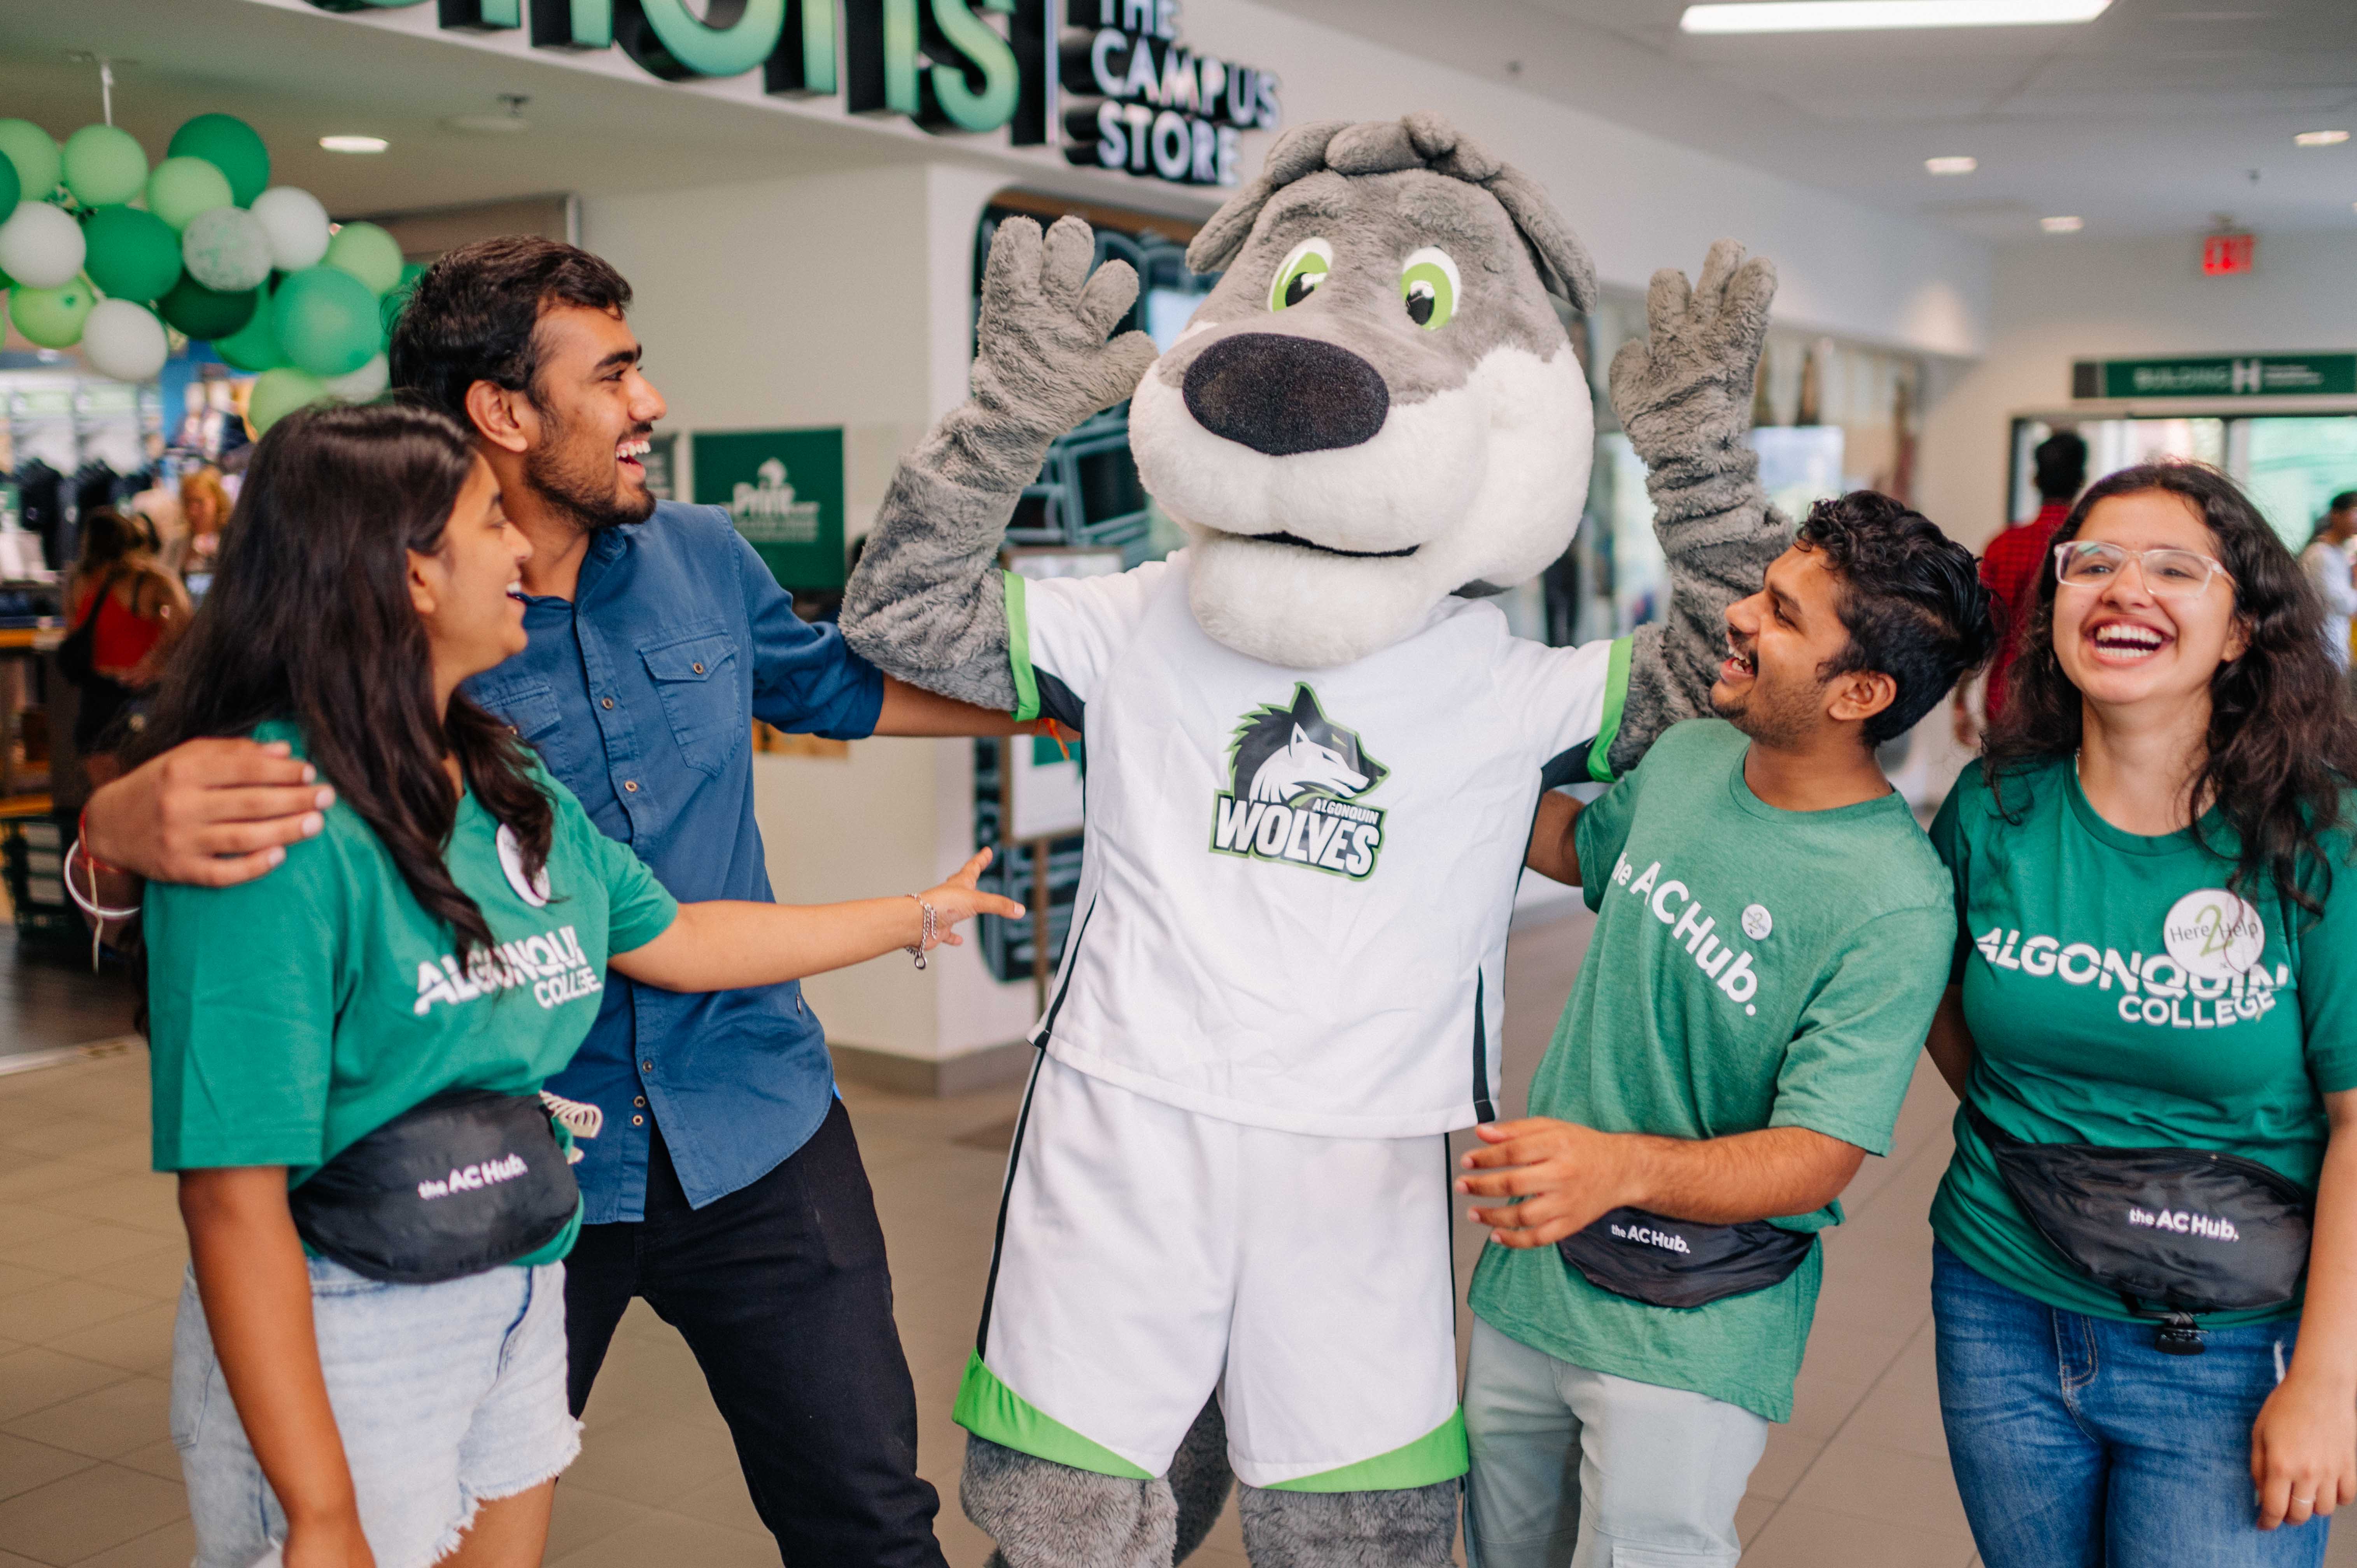
M 1933 823 L 1963 1509 L 1989 1568 L 2315 1566 L 2357 1500 L 2357 726 L 2322 611 L 2232 481 L 2150 465 L 2079 498 L 2022 613 Z

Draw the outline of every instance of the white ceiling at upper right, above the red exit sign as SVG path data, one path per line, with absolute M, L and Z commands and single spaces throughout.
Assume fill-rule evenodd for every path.
M 2357 233 L 2357 0 L 2114 0 L 2084 26 L 1690 38 L 1685 0 L 1263 0 L 1605 120 L 1999 243 Z M 1968 153 L 1980 170 L 1933 177 Z

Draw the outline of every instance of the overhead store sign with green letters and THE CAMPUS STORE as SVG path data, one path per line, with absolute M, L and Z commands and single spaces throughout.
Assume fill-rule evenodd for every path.
M 323 12 L 424 2 L 311 0 Z M 759 71 L 778 97 L 841 94 L 851 113 L 931 132 L 1006 130 L 1014 146 L 1063 144 L 1082 167 L 1178 184 L 1235 184 L 1242 132 L 1280 118 L 1277 78 L 1181 42 L 1178 0 L 1063 0 L 1061 17 L 1058 0 L 436 5 L 445 28 L 521 31 L 542 50 L 620 47 L 667 83 Z M 1065 108 L 1065 92 L 1084 101 Z

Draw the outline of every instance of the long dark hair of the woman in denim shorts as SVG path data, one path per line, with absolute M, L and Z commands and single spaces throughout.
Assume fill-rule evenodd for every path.
M 457 828 L 443 757 L 516 832 L 526 877 L 547 863 L 556 825 L 507 724 L 464 693 L 434 712 L 408 556 L 441 549 L 474 462 L 467 431 L 427 408 L 304 408 L 271 424 L 222 531 L 212 592 L 130 759 L 292 719 L 417 903 L 457 931 L 460 964 L 493 936 L 443 858 Z

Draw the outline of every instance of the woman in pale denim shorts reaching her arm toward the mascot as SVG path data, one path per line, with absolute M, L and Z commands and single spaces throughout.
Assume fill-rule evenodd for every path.
M 299 413 L 259 443 L 144 750 L 285 740 L 323 830 L 231 889 L 148 884 L 156 1167 L 193 1269 L 172 1436 L 198 1568 L 537 1563 L 566 1410 L 561 1153 L 540 1101 L 606 967 L 768 986 L 955 943 L 948 884 L 676 905 L 460 681 L 523 648 L 530 556 L 450 420 Z M 757 1113 L 757 1108 L 754 1108 Z M 561 1127 L 561 1129 L 559 1129 Z

